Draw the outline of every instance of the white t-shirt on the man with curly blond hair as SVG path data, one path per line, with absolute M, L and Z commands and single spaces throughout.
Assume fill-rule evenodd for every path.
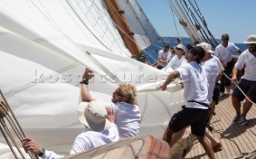
M 141 109 L 138 105 L 126 102 L 105 103 L 106 107 L 114 109 L 115 124 L 118 125 L 120 138 L 136 137 L 142 121 Z

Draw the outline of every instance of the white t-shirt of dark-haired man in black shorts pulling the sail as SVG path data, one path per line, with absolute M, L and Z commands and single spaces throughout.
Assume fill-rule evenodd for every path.
M 184 83 L 184 97 L 187 101 L 198 101 L 209 105 L 208 81 L 206 74 L 197 62 L 182 64 L 178 69 L 180 78 Z M 187 108 L 208 109 L 196 102 L 187 102 Z

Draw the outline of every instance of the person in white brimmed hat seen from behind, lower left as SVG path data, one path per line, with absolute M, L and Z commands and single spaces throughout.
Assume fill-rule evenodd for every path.
M 76 137 L 70 155 L 120 139 L 118 127 L 114 124 L 114 110 L 111 108 L 106 109 L 101 101 L 81 102 L 78 106 L 78 116 L 79 121 L 86 126 L 86 130 Z M 30 137 L 25 137 L 22 140 L 22 145 L 26 152 L 30 151 L 42 159 L 64 157 L 53 151 L 41 149 L 38 143 Z

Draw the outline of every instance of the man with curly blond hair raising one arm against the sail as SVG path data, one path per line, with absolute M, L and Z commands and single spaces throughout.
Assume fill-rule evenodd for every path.
M 94 77 L 91 70 L 86 69 L 82 76 L 81 95 L 82 101 L 95 101 L 91 97 L 88 84 L 89 80 Z M 122 83 L 112 93 L 112 102 L 104 103 L 106 107 L 114 109 L 115 123 L 118 125 L 119 136 L 135 137 L 138 136 L 138 129 L 142 121 L 141 109 L 137 105 L 137 89 L 129 83 Z

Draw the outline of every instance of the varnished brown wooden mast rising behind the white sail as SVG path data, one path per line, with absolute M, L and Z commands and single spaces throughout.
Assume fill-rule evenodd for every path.
M 125 42 L 126 47 L 128 50 L 130 50 L 131 54 L 133 54 L 133 57 L 136 58 L 143 56 L 142 50 L 134 38 L 134 33 L 130 30 L 130 26 L 128 25 L 124 11 L 121 10 L 121 6 L 119 5 L 118 0 L 104 0 L 104 2 L 111 18 L 118 26 L 118 31 L 122 36 L 122 40 Z

